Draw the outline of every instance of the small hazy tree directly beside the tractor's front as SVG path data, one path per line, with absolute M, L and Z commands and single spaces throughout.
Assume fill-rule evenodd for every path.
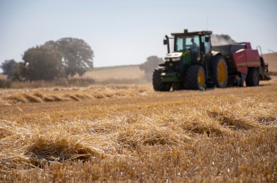
M 143 64 L 139 66 L 139 68 L 141 70 L 144 70 L 145 78 L 148 81 L 151 81 L 154 68 L 157 68 L 157 66 L 159 66 L 159 64 L 162 64 L 162 63 L 163 63 L 162 58 L 159 58 L 157 56 L 150 56 Z

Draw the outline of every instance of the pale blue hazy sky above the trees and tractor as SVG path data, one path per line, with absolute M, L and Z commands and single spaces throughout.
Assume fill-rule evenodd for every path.
M 75 37 L 91 46 L 96 67 L 141 64 L 166 55 L 165 35 L 207 25 L 276 52 L 276 10 L 276 0 L 0 0 L 0 63 L 21 61 L 28 48 L 46 41 Z

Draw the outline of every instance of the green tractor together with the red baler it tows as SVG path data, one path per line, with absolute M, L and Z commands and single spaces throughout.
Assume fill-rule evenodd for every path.
M 211 31 L 172 33 L 163 44 L 168 46 L 164 64 L 154 69 L 154 90 L 200 90 L 225 88 L 227 84 L 257 86 L 267 77 L 267 64 L 252 50 L 250 43 L 211 46 Z M 174 39 L 170 52 L 169 39 Z M 258 59 L 258 60 L 257 60 Z M 251 66 L 251 67 L 249 67 Z

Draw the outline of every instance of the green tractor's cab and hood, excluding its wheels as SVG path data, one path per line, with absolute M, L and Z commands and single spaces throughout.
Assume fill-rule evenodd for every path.
M 163 44 L 168 45 L 168 54 L 162 81 L 179 82 L 185 78 L 186 70 L 190 65 L 202 65 L 211 56 L 211 31 L 172 33 L 172 37 L 166 36 Z M 174 50 L 170 52 L 169 39 L 174 39 Z

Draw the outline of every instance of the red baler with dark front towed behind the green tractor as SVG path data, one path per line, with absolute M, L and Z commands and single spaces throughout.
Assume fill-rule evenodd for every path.
M 271 79 L 268 74 L 268 65 L 265 63 L 258 50 L 252 50 L 249 42 L 213 46 L 225 57 L 228 65 L 229 83 L 243 86 L 258 86 L 260 80 Z

